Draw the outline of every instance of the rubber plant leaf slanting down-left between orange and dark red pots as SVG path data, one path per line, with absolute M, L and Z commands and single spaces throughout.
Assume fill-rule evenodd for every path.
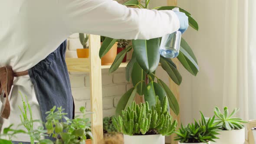
M 125 58 L 126 53 L 129 52 L 131 49 L 132 46 L 128 46 L 127 48 L 118 53 L 118 55 L 115 57 L 115 61 L 112 63 L 110 69 L 108 70 L 109 73 L 115 72 L 115 70 L 118 69 L 119 65 Z

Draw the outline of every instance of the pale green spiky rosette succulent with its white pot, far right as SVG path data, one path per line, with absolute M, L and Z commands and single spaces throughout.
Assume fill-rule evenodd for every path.
M 214 114 L 216 115 L 216 123 L 220 125 L 220 139 L 216 140 L 214 144 L 244 144 L 245 142 L 245 128 L 241 118 L 233 118 L 233 115 L 239 111 L 235 108 L 229 115 L 228 108 L 225 107 L 223 113 L 218 107 L 215 107 Z

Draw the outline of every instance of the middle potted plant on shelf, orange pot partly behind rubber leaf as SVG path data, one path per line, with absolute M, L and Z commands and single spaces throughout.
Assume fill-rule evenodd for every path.
M 101 44 L 102 46 L 106 46 L 106 43 L 103 43 L 106 39 L 105 36 L 101 36 Z M 115 61 L 115 56 L 117 55 L 117 42 L 110 42 L 111 45 L 106 46 L 106 50 L 104 51 L 104 56 L 102 56 L 102 65 L 112 65 Z

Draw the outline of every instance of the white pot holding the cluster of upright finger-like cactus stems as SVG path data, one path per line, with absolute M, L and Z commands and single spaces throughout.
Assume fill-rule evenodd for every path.
M 124 141 L 125 144 L 164 144 L 165 137 L 161 134 L 153 135 L 125 135 Z

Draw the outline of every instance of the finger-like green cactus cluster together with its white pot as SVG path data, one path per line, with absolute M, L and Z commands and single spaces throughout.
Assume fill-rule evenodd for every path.
M 164 144 L 164 136 L 171 135 L 177 126 L 168 111 L 167 97 L 164 102 L 156 98 L 156 105 L 149 103 L 131 106 L 123 110 L 121 115 L 112 118 L 118 132 L 124 134 L 124 144 Z

